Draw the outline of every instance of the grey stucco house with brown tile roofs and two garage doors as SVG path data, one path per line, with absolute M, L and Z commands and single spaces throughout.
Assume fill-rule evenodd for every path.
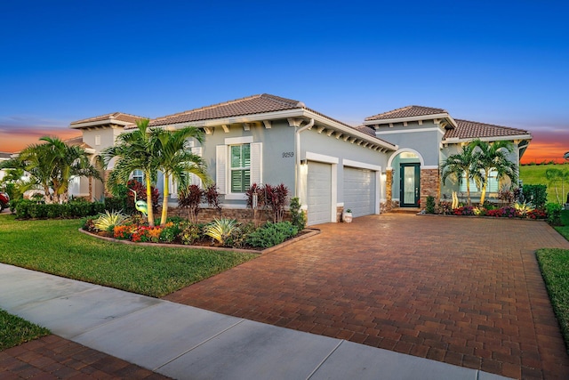
M 70 127 L 82 131 L 83 142 L 96 154 L 141 118 L 116 112 Z M 245 208 L 244 191 L 252 183 L 284 183 L 292 196 L 301 198 L 309 225 L 338 222 L 345 209 L 362 216 L 424 205 L 429 195 L 440 198 L 453 190 L 441 189 L 439 166 L 462 144 L 476 138 L 513 141 L 517 151 L 511 159 L 518 163 L 532 138 L 527 131 L 454 120 L 444 109 L 419 106 L 351 126 L 301 101 L 266 93 L 157 117 L 149 125 L 194 125 L 204 131 L 204 144 L 192 141 L 192 151 L 207 163 L 223 207 Z M 160 190 L 163 182 L 158 179 Z M 104 194 L 101 183 L 89 189 L 92 199 Z

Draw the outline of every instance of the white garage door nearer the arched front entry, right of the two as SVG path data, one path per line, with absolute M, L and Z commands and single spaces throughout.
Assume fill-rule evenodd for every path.
M 375 214 L 375 172 L 344 167 L 344 210 L 354 216 Z

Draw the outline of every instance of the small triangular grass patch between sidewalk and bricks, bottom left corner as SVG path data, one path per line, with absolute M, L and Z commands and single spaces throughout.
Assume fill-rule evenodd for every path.
M 0 309 L 0 351 L 50 335 L 50 330 Z

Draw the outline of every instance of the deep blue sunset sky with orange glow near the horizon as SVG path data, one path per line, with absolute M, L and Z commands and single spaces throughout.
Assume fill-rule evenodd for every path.
M 4 2 L 0 151 L 71 121 L 160 117 L 256 93 L 350 125 L 406 105 L 569 150 L 564 1 Z

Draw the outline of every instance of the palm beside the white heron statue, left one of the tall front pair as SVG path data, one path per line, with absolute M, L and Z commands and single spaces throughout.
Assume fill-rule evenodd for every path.
M 154 227 L 152 183 L 156 183 L 158 167 L 156 164 L 156 139 L 150 138 L 149 121 L 148 119 L 137 120 L 137 129 L 130 133 L 119 134 L 116 137 L 115 145 L 101 151 L 101 157 L 105 167 L 108 167 L 110 161 L 116 158 L 115 166 L 108 177 L 108 184 L 111 187 L 128 182 L 135 170 L 144 173 L 148 225 Z

